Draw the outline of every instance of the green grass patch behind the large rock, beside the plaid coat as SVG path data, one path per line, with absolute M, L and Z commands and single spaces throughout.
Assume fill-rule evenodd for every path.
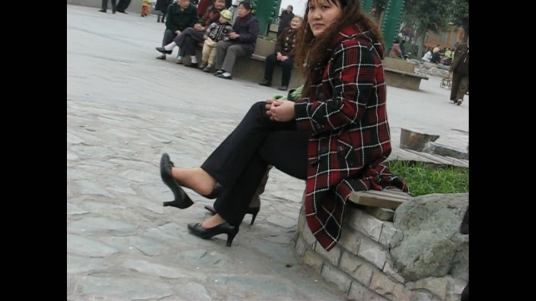
M 469 168 L 393 160 L 385 165 L 410 187 L 412 196 L 469 192 Z

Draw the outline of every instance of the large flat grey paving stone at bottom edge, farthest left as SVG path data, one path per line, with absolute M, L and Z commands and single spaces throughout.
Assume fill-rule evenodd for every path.
M 173 295 L 169 285 L 146 278 L 87 276 L 79 282 L 85 300 L 159 300 Z

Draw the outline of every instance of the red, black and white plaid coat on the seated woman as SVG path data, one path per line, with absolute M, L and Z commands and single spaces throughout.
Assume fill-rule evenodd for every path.
M 308 144 L 305 214 L 309 229 L 326 251 L 341 235 L 352 191 L 397 187 L 403 181 L 380 163 L 391 153 L 385 107 L 384 50 L 361 30 L 344 28 L 311 75 L 310 97 L 295 103 L 299 130 Z

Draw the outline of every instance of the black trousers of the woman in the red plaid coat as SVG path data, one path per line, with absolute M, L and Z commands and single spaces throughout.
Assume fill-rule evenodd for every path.
M 297 131 L 294 120 L 270 120 L 265 105 L 254 104 L 201 166 L 223 186 L 214 209 L 232 225 L 242 223 L 268 165 L 307 179 L 309 134 Z

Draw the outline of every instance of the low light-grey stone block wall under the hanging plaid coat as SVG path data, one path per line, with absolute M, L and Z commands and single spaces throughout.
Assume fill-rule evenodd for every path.
M 389 249 L 403 239 L 393 223 L 348 208 L 339 244 L 330 252 L 316 243 L 300 212 L 295 249 L 301 260 L 351 300 L 459 300 L 465 282 L 450 275 L 406 281 Z

